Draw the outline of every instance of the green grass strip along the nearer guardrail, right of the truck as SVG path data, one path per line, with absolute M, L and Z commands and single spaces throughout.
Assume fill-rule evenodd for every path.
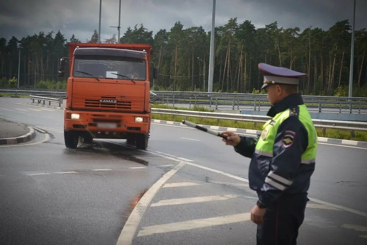
M 186 110 L 189 108 L 183 107 L 172 107 L 161 104 L 152 104 L 152 108 L 162 108 L 162 109 L 175 109 L 175 110 Z M 212 112 L 212 110 L 194 106 L 191 111 L 206 111 Z M 152 114 L 152 119 L 165 120 L 165 121 L 173 121 L 173 122 L 182 122 L 182 120 L 189 120 L 190 122 L 202 125 L 211 125 L 211 126 L 221 126 L 221 127 L 234 127 L 238 129 L 255 129 L 262 130 L 262 123 L 251 123 L 251 122 L 236 122 L 234 120 L 218 120 L 217 119 L 205 119 L 205 118 L 193 118 L 186 116 L 174 116 L 174 115 L 159 115 Z M 323 133 L 322 129 L 316 129 L 317 136 L 326 137 L 326 138 L 336 138 L 342 140 L 357 140 L 357 141 L 367 141 L 367 132 L 363 131 L 355 131 L 355 135 L 352 137 L 350 135 L 350 131 L 348 130 L 339 130 L 339 129 L 326 129 L 326 132 Z

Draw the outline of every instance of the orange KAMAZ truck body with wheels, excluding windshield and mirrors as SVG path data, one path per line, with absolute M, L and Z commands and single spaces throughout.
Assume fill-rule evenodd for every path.
M 137 148 L 145 149 L 148 145 L 151 119 L 149 87 L 151 46 L 101 43 L 68 43 L 68 45 L 70 75 L 67 81 L 64 112 L 66 147 L 76 148 L 76 138 L 79 140 L 81 137 L 86 143 L 91 143 L 93 138 L 127 139 L 128 144 L 136 144 Z M 146 63 L 145 78 L 133 80 L 120 77 L 97 77 L 98 79 L 91 76 L 81 77 L 77 75 L 79 73 L 73 72 L 73 67 L 76 62 L 76 51 L 84 52 L 84 50 L 89 50 L 91 54 L 94 51 L 96 54 L 102 52 L 103 57 L 125 55 L 124 58 L 135 57 L 143 60 L 139 62 Z M 76 116 L 71 116 L 72 114 L 79 115 L 79 118 L 76 119 Z

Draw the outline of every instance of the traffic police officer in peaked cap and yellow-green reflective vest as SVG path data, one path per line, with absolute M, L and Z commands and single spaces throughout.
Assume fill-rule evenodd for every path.
M 264 63 L 258 67 L 272 119 L 257 138 L 225 131 L 223 141 L 251 158 L 248 179 L 259 198 L 251 210 L 251 220 L 258 224 L 257 244 L 296 244 L 317 149 L 315 127 L 298 93 L 299 77 L 307 74 Z

